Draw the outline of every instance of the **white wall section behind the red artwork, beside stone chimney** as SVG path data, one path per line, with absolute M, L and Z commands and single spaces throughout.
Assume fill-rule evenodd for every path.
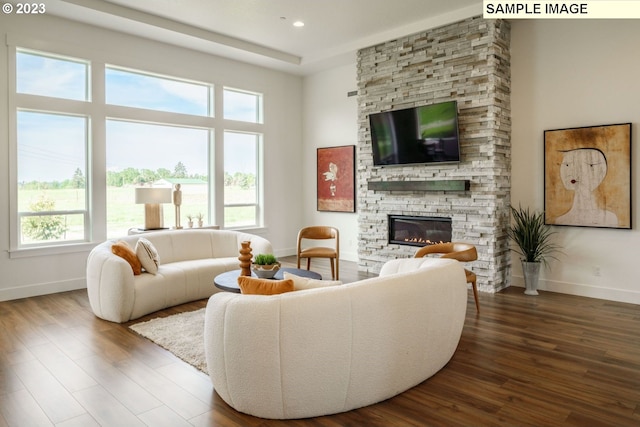
M 341 66 L 307 76 L 303 83 L 304 155 L 302 182 L 304 206 L 301 226 L 332 225 L 340 230 L 340 258 L 357 261 L 357 213 L 319 212 L 316 203 L 316 150 L 321 147 L 356 145 L 358 142 L 358 97 L 356 66 Z M 356 158 L 356 168 L 358 159 Z M 357 183 L 356 183 L 357 185 Z M 358 206 L 356 203 L 356 211 Z

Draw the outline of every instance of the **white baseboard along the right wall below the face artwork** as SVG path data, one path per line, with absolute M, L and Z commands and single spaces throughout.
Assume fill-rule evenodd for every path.
M 524 288 L 524 277 L 512 276 L 511 285 Z M 609 301 L 626 302 L 629 304 L 640 304 L 640 291 L 631 291 L 628 289 L 603 288 L 581 283 L 540 279 L 540 282 L 538 283 L 538 290 L 588 298 L 598 298 Z

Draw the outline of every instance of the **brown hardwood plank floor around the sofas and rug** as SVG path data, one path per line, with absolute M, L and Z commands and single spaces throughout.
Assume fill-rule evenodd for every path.
M 329 278 L 323 261 L 312 269 Z M 340 263 L 344 282 L 366 276 Z M 480 308 L 470 293 L 456 354 L 413 389 L 343 414 L 274 421 L 236 412 L 207 375 L 128 324 L 97 319 L 84 290 L 0 302 L 0 427 L 640 425 L 640 306 L 513 288 L 481 293 Z

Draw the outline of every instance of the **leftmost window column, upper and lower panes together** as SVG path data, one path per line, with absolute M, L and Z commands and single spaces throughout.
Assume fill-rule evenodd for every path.
M 15 245 L 85 241 L 89 62 L 16 49 L 15 70 Z M 29 108 L 21 95 L 34 98 Z

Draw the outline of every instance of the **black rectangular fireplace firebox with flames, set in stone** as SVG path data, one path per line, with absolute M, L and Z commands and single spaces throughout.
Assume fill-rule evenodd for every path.
M 451 218 L 389 215 L 389 243 L 427 246 L 451 241 Z

